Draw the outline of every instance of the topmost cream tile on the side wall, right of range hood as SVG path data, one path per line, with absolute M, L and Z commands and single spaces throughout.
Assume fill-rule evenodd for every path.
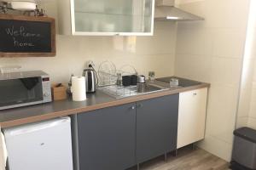
M 245 29 L 247 26 L 249 0 L 205 0 L 179 7 L 204 17 L 206 27 Z

